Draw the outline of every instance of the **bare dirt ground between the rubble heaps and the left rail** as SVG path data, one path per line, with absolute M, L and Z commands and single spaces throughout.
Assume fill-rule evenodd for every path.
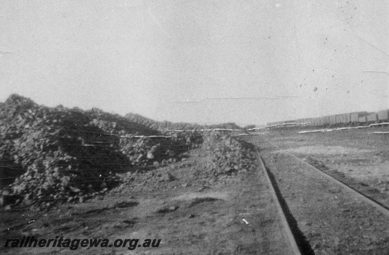
M 129 175 L 126 185 L 49 211 L 2 211 L 1 239 L 161 239 L 158 248 L 1 248 L 5 254 L 290 254 L 262 170 L 211 178 L 203 149 L 184 162 Z M 255 163 L 254 163 L 255 164 Z M 152 176 L 159 176 L 158 181 Z M 246 223 L 245 221 L 248 223 Z M 1 246 L 3 246 L 2 244 Z

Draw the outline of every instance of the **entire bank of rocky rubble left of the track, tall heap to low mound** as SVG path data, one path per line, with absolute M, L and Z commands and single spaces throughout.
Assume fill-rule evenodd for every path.
M 229 127 L 234 124 L 218 128 Z M 0 104 L 1 205 L 44 208 L 104 199 L 114 187 L 191 186 L 172 170 L 191 167 L 187 151 L 199 146 L 209 153 L 201 168 L 195 166 L 197 183 L 213 184 L 250 170 L 253 156 L 236 138 L 220 131 L 169 131 L 204 128 L 100 109 L 51 108 L 11 95 Z

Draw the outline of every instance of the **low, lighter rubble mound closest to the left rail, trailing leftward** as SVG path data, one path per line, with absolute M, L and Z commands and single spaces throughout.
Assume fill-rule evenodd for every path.
M 211 139 L 209 139 L 211 136 Z M 227 134 L 207 132 L 203 134 L 201 157 L 185 157 L 184 162 L 165 165 L 157 169 L 117 174 L 122 184 L 114 192 L 158 190 L 159 188 L 196 187 L 198 192 L 211 187 L 240 180 L 243 173 L 255 169 L 254 154 L 241 141 Z M 225 159 L 227 158 L 227 160 Z

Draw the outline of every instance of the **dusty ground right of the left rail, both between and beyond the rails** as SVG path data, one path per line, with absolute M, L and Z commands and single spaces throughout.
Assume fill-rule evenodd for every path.
M 387 217 L 301 161 L 388 206 L 389 137 L 372 135 L 373 131 L 346 130 L 302 136 L 293 130 L 283 130 L 255 139 L 288 210 L 316 254 L 387 254 L 389 251 Z

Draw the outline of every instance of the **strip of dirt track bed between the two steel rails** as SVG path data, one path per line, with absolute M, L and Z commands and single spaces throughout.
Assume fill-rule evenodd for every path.
M 262 157 L 316 254 L 387 254 L 389 221 L 382 211 L 295 156 Z

